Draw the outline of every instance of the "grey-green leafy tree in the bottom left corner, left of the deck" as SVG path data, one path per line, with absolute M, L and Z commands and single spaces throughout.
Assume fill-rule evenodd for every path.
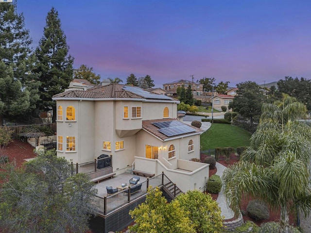
M 0 225 L 5 232 L 85 233 L 95 214 L 96 194 L 85 174 L 71 175 L 71 166 L 52 152 L 17 169 L 8 165 L 0 178 Z M 3 182 L 5 181 L 5 182 Z

